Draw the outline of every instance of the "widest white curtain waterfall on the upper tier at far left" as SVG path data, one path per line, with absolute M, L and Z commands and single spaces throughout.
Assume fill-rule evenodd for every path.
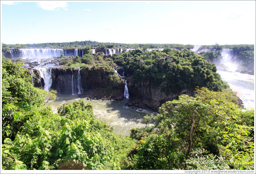
M 66 55 L 64 49 L 48 49 L 48 48 L 22 48 L 22 49 L 12 49 L 10 51 L 12 58 L 20 57 L 21 59 L 49 59 L 61 56 L 61 54 Z

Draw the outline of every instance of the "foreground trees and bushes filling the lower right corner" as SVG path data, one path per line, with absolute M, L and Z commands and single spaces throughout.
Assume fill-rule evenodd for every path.
M 195 89 L 195 97 L 167 101 L 156 116 L 145 117 L 146 122 L 155 119 L 155 126 L 131 130 L 139 141 L 125 159 L 125 169 L 253 170 L 254 111 L 240 110 L 231 101 L 230 95 L 207 88 Z M 170 136 L 177 139 L 173 146 L 169 142 L 172 149 L 158 146 L 160 137 Z M 156 160 L 160 154 L 154 147 L 165 152 L 159 159 L 166 165 Z

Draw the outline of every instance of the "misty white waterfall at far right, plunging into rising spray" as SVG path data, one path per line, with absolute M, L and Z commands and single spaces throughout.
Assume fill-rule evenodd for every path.
M 221 63 L 227 67 L 228 71 L 235 72 L 237 69 L 237 64 L 232 62 L 233 49 L 223 49 L 221 51 Z

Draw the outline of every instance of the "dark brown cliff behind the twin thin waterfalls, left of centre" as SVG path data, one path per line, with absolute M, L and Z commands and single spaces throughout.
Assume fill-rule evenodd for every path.
M 52 85 L 51 89 L 56 90 L 58 94 L 72 94 L 72 76 L 73 80 L 76 82 L 76 89 L 77 87 L 77 77 L 78 77 L 79 69 L 69 69 L 69 68 L 52 68 L 51 70 L 51 79 Z M 40 77 L 39 71 L 37 69 L 33 69 L 34 74 L 34 86 L 35 87 L 44 87 L 44 79 Z M 118 82 L 113 83 L 107 74 L 107 70 L 100 68 L 100 69 L 91 69 L 91 68 L 81 68 L 80 69 L 81 75 L 81 85 L 83 91 L 86 92 L 91 89 L 102 89 L 104 91 L 111 90 L 112 93 L 114 90 L 119 91 L 120 94 L 118 95 L 119 99 L 122 99 L 120 95 L 123 95 L 124 88 L 125 88 L 125 80 L 119 79 Z M 104 93 L 102 95 L 105 95 Z

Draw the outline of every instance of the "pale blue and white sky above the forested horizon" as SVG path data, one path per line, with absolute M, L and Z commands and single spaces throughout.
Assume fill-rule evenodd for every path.
M 1 42 L 255 44 L 255 2 L 1 0 Z

